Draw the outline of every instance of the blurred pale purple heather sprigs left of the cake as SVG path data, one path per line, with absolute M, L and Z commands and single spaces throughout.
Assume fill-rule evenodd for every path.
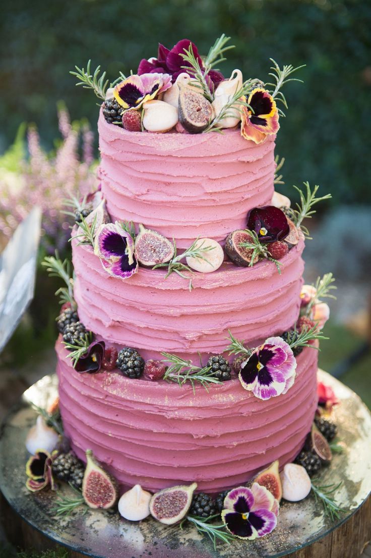
M 26 158 L 23 138 L 18 136 L 13 146 L 12 168 L 2 167 L 0 158 L 0 232 L 7 237 L 30 210 L 39 205 L 42 209 L 41 242 L 47 253 L 63 252 L 70 236 L 72 219 L 62 213 L 64 200 L 88 194 L 97 187 L 93 157 L 94 136 L 86 124 L 80 129 L 71 126 L 69 113 L 58 109 L 58 123 L 62 141 L 50 157 L 40 145 L 35 128 L 29 128 Z M 82 160 L 79 148 L 82 142 Z

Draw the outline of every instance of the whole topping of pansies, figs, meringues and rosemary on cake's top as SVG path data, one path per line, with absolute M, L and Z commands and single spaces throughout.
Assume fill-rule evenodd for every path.
M 233 49 L 230 37 L 219 37 L 207 56 L 200 56 L 197 46 L 182 39 L 168 49 L 158 46 L 157 57 L 139 62 L 136 74 L 120 76 L 113 82 L 100 75 L 100 66 L 90 73 L 90 60 L 84 68 L 71 71 L 76 85 L 94 90 L 102 103 L 107 122 L 131 132 L 202 133 L 240 127 L 241 135 L 255 143 L 266 141 L 280 128 L 279 117 L 287 108 L 282 86 L 296 70 L 291 65 L 273 66 L 271 83 L 257 78 L 243 79 L 241 70 L 225 78 L 216 69 Z

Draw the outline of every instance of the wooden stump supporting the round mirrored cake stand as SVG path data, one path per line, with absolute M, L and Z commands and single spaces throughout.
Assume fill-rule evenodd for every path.
M 21 549 L 47 550 L 59 547 L 57 543 L 28 525 L 13 511 L 1 496 L 1 520 L 8 540 Z M 290 558 L 359 558 L 371 539 L 371 498 L 343 525 L 330 535 L 302 550 L 290 554 Z M 69 550 L 69 558 L 84 558 L 80 552 Z M 122 558 L 139 558 L 124 556 Z M 164 557 L 165 558 L 165 557 Z M 197 558 L 192 556 L 192 558 Z

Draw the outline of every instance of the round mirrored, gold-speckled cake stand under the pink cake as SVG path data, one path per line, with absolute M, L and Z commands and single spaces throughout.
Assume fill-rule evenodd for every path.
M 214 550 L 211 541 L 189 524 L 180 530 L 177 526 L 164 526 L 152 518 L 134 523 L 108 511 L 89 509 L 83 514 L 82 508 L 77 508 L 69 516 L 56 517 L 53 514 L 55 493 L 51 490 L 30 493 L 25 487 L 28 459 L 25 439 L 36 418 L 31 403 L 45 408 L 55 399 L 56 376 L 46 376 L 27 389 L 3 422 L 0 488 L 11 507 L 9 512 L 17 512 L 32 530 L 66 546 L 70 549 L 70 556 L 74 557 L 278 558 L 292 552 L 298 558 L 359 556 L 363 543 L 371 534 L 371 499 L 368 500 L 371 492 L 371 416 L 348 387 L 323 371 L 319 371 L 319 379 L 333 387 L 341 402 L 335 407 L 334 420 L 344 451 L 334 455 L 331 466 L 323 468 L 318 479 L 323 485 L 342 482 L 335 498 L 346 512 L 335 522 L 325 517 L 321 503 L 316 503 L 312 496 L 297 503 L 282 501 L 277 527 L 270 535 L 255 541 L 236 540 L 230 546 L 218 542 Z M 67 486 L 61 488 L 65 494 L 70 490 Z M 305 549 L 319 540 L 321 543 L 313 547 L 316 548 L 313 553 Z M 51 541 L 49 544 L 52 546 Z M 360 550 L 355 554 L 357 544 Z M 335 551 L 335 546 L 341 550 Z

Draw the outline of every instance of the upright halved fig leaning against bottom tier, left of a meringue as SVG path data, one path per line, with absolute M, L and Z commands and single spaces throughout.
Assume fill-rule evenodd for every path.
M 86 469 L 82 479 L 82 496 L 90 508 L 109 509 L 118 498 L 116 480 L 96 461 L 91 450 L 86 450 Z

